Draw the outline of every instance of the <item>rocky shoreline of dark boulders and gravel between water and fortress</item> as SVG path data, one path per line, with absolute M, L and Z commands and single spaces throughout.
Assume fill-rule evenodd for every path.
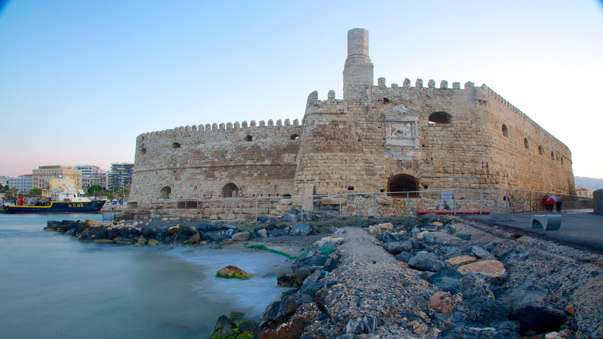
M 288 239 L 299 250 L 311 246 L 292 261 L 293 274 L 277 277 L 297 288 L 259 323 L 221 316 L 213 339 L 603 338 L 600 258 L 452 216 L 349 220 L 338 224 L 344 228 L 98 223 L 49 221 L 45 229 L 137 246 Z

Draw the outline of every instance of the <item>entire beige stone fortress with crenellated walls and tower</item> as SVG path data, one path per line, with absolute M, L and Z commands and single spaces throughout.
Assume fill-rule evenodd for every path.
M 375 86 L 361 28 L 348 32 L 343 83 L 341 100 L 310 93 L 301 125 L 252 120 L 138 136 L 130 201 L 393 192 L 380 198 L 391 206 L 407 191 L 575 194 L 569 148 L 485 84 Z

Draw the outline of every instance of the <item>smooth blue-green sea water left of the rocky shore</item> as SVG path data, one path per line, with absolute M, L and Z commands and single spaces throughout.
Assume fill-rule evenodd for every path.
M 209 338 L 220 314 L 259 319 L 291 269 L 274 253 L 81 243 L 47 220 L 100 214 L 0 214 L 1 338 Z M 215 277 L 235 265 L 248 280 Z M 276 267 L 275 267 L 276 265 Z

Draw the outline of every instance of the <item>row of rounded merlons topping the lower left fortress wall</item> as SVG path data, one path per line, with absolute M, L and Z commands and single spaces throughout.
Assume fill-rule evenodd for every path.
M 175 136 L 175 135 L 180 135 L 183 133 L 203 133 L 203 132 L 210 132 L 210 131 L 227 131 L 227 130 L 240 130 L 243 128 L 265 128 L 265 127 L 287 127 L 287 126 L 298 126 L 301 127 L 299 124 L 299 119 L 293 119 L 293 124 L 291 124 L 291 119 L 285 119 L 285 124 L 282 123 L 281 119 L 278 119 L 276 121 L 276 125 L 274 125 L 273 119 L 268 119 L 268 125 L 266 125 L 264 120 L 261 120 L 259 122 L 259 126 L 256 125 L 256 121 L 255 120 L 251 120 L 250 124 L 247 124 L 247 121 L 243 121 L 241 123 L 239 123 L 238 121 L 236 121 L 234 124 L 232 122 L 222 122 L 221 124 L 218 124 L 217 122 L 214 122 L 213 124 L 200 124 L 200 125 L 186 125 L 186 126 L 180 126 L 180 127 L 174 127 L 171 130 L 161 130 L 161 131 L 151 131 L 151 132 L 147 132 L 147 133 L 142 133 L 141 135 L 137 136 L 137 138 L 150 138 L 153 136 Z

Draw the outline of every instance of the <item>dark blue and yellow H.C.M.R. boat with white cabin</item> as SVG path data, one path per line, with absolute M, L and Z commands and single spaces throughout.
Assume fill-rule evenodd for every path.
M 65 184 L 66 189 L 49 190 L 49 197 L 35 203 L 20 199 L 17 204 L 4 206 L 7 213 L 93 213 L 101 211 L 107 197 L 83 197 L 84 191 Z

